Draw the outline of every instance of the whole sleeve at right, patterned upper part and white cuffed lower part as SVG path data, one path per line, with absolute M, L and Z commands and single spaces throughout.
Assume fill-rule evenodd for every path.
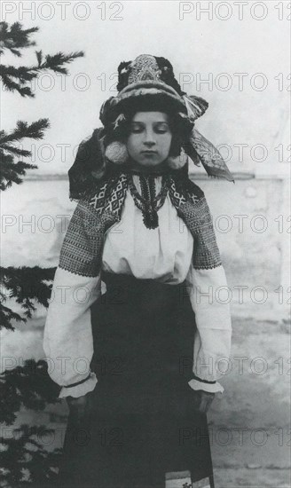
M 228 287 L 212 216 L 204 193 L 192 206 L 193 260 L 186 277 L 197 332 L 193 345 L 193 390 L 223 391 L 216 382 L 228 367 L 232 321 Z

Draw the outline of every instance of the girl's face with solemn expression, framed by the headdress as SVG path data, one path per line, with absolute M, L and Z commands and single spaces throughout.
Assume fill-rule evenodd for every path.
M 171 140 L 168 114 L 137 112 L 132 117 L 127 149 L 138 164 L 151 167 L 165 161 L 169 156 Z

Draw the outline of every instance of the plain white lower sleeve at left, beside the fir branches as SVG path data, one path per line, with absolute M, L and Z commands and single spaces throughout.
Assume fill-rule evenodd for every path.
M 81 397 L 96 386 L 96 375 L 90 372 L 93 355 L 90 305 L 98 299 L 100 283 L 99 276 L 81 276 L 59 266 L 55 273 L 43 350 L 51 379 L 63 387 L 60 398 Z

